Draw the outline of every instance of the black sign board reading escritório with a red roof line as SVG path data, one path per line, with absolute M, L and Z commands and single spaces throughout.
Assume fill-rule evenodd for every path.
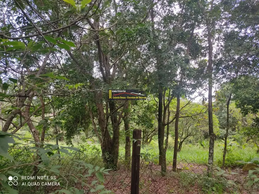
M 109 90 L 109 100 L 145 100 L 146 93 L 143 90 Z

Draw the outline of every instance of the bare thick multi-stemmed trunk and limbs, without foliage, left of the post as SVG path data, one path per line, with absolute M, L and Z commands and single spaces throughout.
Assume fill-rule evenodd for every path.
M 117 12 L 116 1 L 113 1 L 115 7 L 115 13 Z M 99 21 L 92 22 L 89 18 L 86 19 L 93 30 L 99 30 Z M 112 29 L 116 30 L 116 25 Z M 113 65 L 110 64 L 111 58 L 111 50 L 113 49 L 113 39 L 110 39 L 108 43 L 108 52 L 105 54 L 104 50 L 102 50 L 102 45 L 100 43 L 99 34 L 97 33 L 94 36 L 95 43 L 97 46 L 98 52 L 98 61 L 99 61 L 99 69 L 102 74 L 103 81 L 109 86 L 112 81 L 114 81 L 116 70 L 117 70 L 117 62 Z M 105 42 L 106 45 L 106 42 Z M 106 51 L 106 49 L 105 49 Z M 73 54 L 70 52 L 70 56 Z M 74 57 L 73 57 L 74 58 Z M 73 59 L 77 64 L 81 65 L 77 59 Z M 114 59 L 115 60 L 115 59 Z M 113 67 L 112 67 L 113 66 Z M 111 73 L 111 68 L 113 68 Z M 94 87 L 94 78 L 92 78 L 92 87 Z M 108 97 L 108 96 L 107 96 Z M 106 112 L 104 112 L 102 91 L 95 92 L 95 100 L 96 100 L 96 108 L 98 114 L 98 122 L 99 127 L 101 129 L 102 134 L 102 157 L 104 162 L 106 163 L 107 168 L 116 169 L 119 155 L 119 120 L 120 117 L 117 117 L 117 109 L 114 101 L 108 101 L 106 98 Z M 113 136 L 111 138 L 110 133 L 108 131 L 108 122 L 109 118 L 111 118 L 111 126 L 113 130 Z

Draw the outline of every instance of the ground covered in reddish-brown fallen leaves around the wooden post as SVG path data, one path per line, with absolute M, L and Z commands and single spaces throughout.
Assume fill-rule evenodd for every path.
M 203 190 L 201 177 L 206 174 L 206 165 L 182 164 L 178 168 L 182 168 L 181 172 L 174 172 L 172 166 L 167 167 L 167 175 L 160 175 L 161 168 L 159 165 L 149 164 L 141 167 L 140 171 L 140 193 L 142 194 L 165 194 L 165 193 L 208 193 Z M 180 171 L 180 170 L 179 170 Z M 243 172 L 240 168 L 227 168 L 227 180 L 233 180 L 238 185 L 237 193 L 241 194 L 259 194 L 259 191 L 249 192 L 245 187 L 245 179 L 248 172 Z M 105 178 L 105 189 L 111 190 L 115 194 L 130 193 L 131 188 L 131 171 L 120 168 L 117 171 L 110 171 Z M 94 177 L 93 177 L 94 180 Z M 91 181 L 91 180 L 89 180 Z M 233 185 L 229 190 L 223 193 L 233 193 L 237 187 Z M 212 192 L 213 193 L 213 192 Z

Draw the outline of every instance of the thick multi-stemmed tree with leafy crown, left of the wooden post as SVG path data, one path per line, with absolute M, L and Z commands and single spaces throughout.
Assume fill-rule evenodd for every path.
M 71 66 L 78 68 L 77 72 L 80 73 L 83 79 L 88 81 L 89 86 L 87 88 L 93 91 L 92 95 L 86 94 L 88 100 L 86 101 L 85 108 L 91 117 L 95 134 L 99 138 L 102 157 L 107 167 L 116 169 L 119 154 L 119 125 L 123 115 L 123 111 L 119 110 L 126 103 L 108 101 L 108 94 L 99 88 L 104 87 L 104 90 L 108 90 L 127 86 L 127 81 L 131 77 L 127 76 L 128 80 L 124 79 L 125 70 L 127 71 L 128 66 L 124 66 L 123 61 L 128 47 L 131 48 L 131 44 L 128 44 L 127 41 L 132 39 L 132 37 L 125 36 L 125 34 L 134 30 L 134 26 L 133 29 L 128 29 L 127 27 L 119 27 L 119 23 L 124 24 L 125 20 L 130 21 L 126 19 L 128 17 L 131 18 L 133 24 L 141 25 L 142 22 L 139 20 L 142 14 L 125 11 L 130 9 L 130 7 L 124 3 L 118 5 L 114 1 L 111 3 L 111 6 L 113 6 L 111 13 L 107 12 L 104 18 L 102 18 L 102 15 L 99 15 L 93 19 L 88 18 L 86 20 L 85 25 L 91 28 L 90 31 L 92 33 L 89 33 L 89 36 L 82 37 L 81 41 L 92 39 L 94 44 L 91 44 L 89 47 L 88 45 L 79 47 L 80 54 L 78 52 L 70 52 L 68 54 L 73 60 L 70 61 L 70 68 Z M 102 8 L 104 9 L 105 5 Z M 105 13 L 105 10 L 99 12 Z M 121 13 L 125 15 L 122 16 Z M 106 17 L 110 19 L 107 20 Z M 110 27 L 102 29 L 102 26 L 109 26 L 109 22 L 114 20 L 122 22 L 115 22 Z M 79 28 L 81 30 L 89 30 L 83 26 L 79 26 Z M 100 31 L 103 30 L 105 32 L 101 33 Z M 139 30 L 141 30 L 141 27 Z M 136 39 L 138 38 L 136 37 Z M 94 54 L 89 53 L 89 49 Z M 86 58 L 91 57 L 92 61 L 86 61 Z M 95 64 L 98 64 L 98 66 L 95 67 Z M 85 65 L 89 68 L 86 68 Z M 94 68 L 97 68 L 99 75 L 94 73 Z M 71 73 L 70 76 L 74 74 L 74 72 Z M 92 103 L 93 101 L 94 104 Z M 97 123 L 94 118 L 97 118 Z

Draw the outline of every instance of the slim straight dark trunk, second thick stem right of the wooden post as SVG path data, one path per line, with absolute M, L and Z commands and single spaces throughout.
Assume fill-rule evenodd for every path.
M 176 166 L 177 166 L 179 111 L 180 111 L 180 94 L 177 95 L 177 105 L 176 105 L 176 113 L 175 113 L 175 127 L 174 127 L 175 138 L 174 138 L 174 158 L 173 158 L 174 171 L 176 171 Z

